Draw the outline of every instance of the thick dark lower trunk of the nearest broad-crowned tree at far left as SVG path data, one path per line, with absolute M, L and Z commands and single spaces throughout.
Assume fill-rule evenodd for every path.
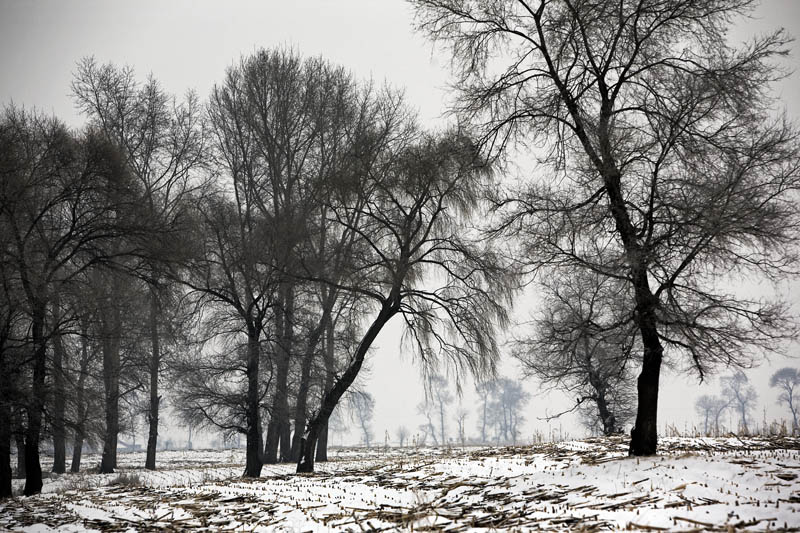
M 28 430 L 25 434 L 25 488 L 23 494 L 30 496 L 42 490 L 42 465 L 39 462 L 39 437 L 42 429 L 42 413 L 45 406 L 45 365 L 47 343 L 44 338 L 46 304 L 36 305 L 31 313 L 31 336 L 33 339 L 33 383 L 28 402 Z

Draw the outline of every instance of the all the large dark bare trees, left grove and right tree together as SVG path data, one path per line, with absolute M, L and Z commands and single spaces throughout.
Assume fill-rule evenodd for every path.
M 513 354 L 603 432 L 633 419 L 635 455 L 656 452 L 664 362 L 702 379 L 791 338 L 785 303 L 725 288 L 789 276 L 798 252 L 797 130 L 768 93 L 789 38 L 725 39 L 755 2 L 411 3 L 453 59 L 441 131 L 287 49 L 243 57 L 204 101 L 82 60 L 79 131 L 4 109 L 3 495 L 12 440 L 33 494 L 45 435 L 54 470 L 69 434 L 73 465 L 96 441 L 113 471 L 136 410 L 155 468 L 165 397 L 245 435 L 246 476 L 313 471 L 390 320 L 443 404 L 440 367 L 495 375 L 531 280 L 543 303 Z M 438 429 L 421 412 L 443 439 L 441 409 Z

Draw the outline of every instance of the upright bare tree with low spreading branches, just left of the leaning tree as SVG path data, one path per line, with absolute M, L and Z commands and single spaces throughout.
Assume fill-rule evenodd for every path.
M 224 133 L 219 135 L 224 142 Z M 181 409 L 195 424 L 207 418 L 226 431 L 244 429 L 244 475 L 258 477 L 262 467 L 261 402 L 266 395 L 260 368 L 263 336 L 278 287 L 269 240 L 272 228 L 255 210 L 250 184 L 239 174 L 239 165 L 249 153 L 223 154 L 229 158 L 233 198 L 225 190 L 216 190 L 198 203 L 197 233 L 191 238 L 199 249 L 184 279 L 207 306 L 210 336 L 219 337 L 222 349 L 215 350 L 214 355 L 219 357 L 210 356 L 211 360 L 198 361 L 196 366 L 185 365 Z M 236 384 L 242 378 L 244 390 Z M 229 399 L 220 402 L 222 397 Z M 236 406 L 244 408 L 244 424 L 235 422 L 242 414 Z M 224 414 L 224 422 L 220 422 L 220 414 Z M 199 419 L 193 418 L 197 415 Z

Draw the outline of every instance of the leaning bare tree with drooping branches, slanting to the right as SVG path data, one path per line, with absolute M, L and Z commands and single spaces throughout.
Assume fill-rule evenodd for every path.
M 397 120 L 398 104 L 383 103 L 391 122 Z M 298 472 L 313 471 L 320 427 L 394 316 L 403 317 L 417 352 L 429 365 L 444 357 L 478 375 L 494 365 L 494 328 L 506 319 L 501 302 L 509 295 L 508 284 L 497 258 L 470 242 L 460 219 L 477 206 L 487 169 L 462 134 L 436 138 L 407 127 L 391 131 L 401 134 L 387 139 L 392 142 L 351 175 L 348 193 L 335 207 L 337 222 L 357 228 L 364 243 L 364 255 L 347 283 L 337 285 L 374 302 L 377 314 L 309 423 Z M 354 155 L 354 163 L 364 165 L 363 156 Z M 428 287 L 422 280 L 444 283 Z M 452 327 L 441 327 L 446 324 Z

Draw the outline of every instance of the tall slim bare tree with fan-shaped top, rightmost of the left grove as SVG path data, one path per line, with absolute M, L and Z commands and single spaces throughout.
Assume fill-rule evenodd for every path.
M 169 96 L 152 77 L 136 81 L 130 68 L 98 65 L 93 58 L 78 63 L 72 82 L 78 108 L 122 151 L 127 167 L 144 191 L 147 214 L 163 231 L 148 240 L 144 269 L 138 275 L 149 285 L 149 330 L 151 353 L 149 433 L 145 468 L 156 467 L 158 443 L 159 374 L 163 367 L 160 331 L 170 263 L 180 260 L 175 236 L 180 232 L 184 197 L 192 190 L 195 169 L 204 163 L 205 133 L 197 97 L 189 93 L 184 102 Z M 196 178 L 195 178 L 196 181 Z

